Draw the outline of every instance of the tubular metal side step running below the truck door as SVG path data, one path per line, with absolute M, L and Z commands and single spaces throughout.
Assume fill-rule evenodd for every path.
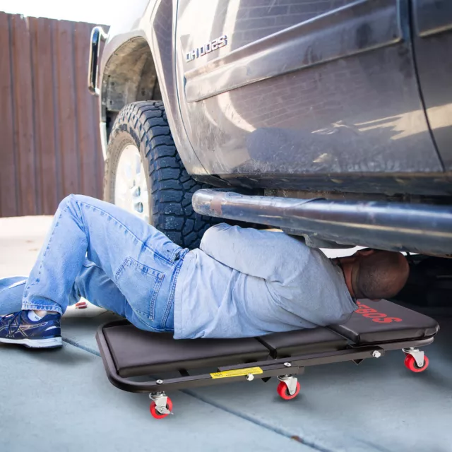
M 201 215 L 279 227 L 314 241 L 452 255 L 451 206 L 246 196 L 224 189 L 198 190 L 192 203 Z

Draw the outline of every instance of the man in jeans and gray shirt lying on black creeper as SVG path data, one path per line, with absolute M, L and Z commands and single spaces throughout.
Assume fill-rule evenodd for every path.
M 402 254 L 329 260 L 281 232 L 210 227 L 199 249 L 171 242 L 110 203 L 68 196 L 28 278 L 0 280 L 0 342 L 60 347 L 60 318 L 81 297 L 176 339 L 245 338 L 347 321 L 357 298 L 391 298 Z

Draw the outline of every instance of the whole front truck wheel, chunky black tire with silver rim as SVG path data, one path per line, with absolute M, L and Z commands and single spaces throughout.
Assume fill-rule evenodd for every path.
M 162 102 L 133 102 L 119 112 L 105 160 L 105 201 L 129 210 L 180 246 L 195 248 L 211 219 L 191 206 L 208 186 L 192 179 L 172 140 Z

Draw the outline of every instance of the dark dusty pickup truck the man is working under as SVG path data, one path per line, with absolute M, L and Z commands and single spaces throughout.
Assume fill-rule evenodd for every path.
M 91 36 L 105 199 L 451 257 L 451 48 L 448 0 L 133 1 Z

